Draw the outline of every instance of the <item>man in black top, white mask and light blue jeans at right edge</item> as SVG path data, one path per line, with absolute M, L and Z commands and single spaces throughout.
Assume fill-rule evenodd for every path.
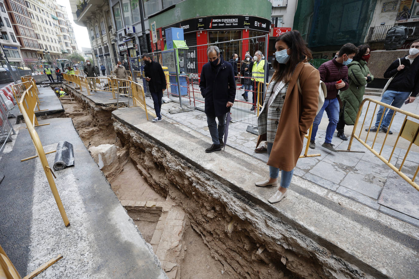
M 414 41 L 410 45 L 409 55 L 396 59 L 390 67 L 385 71 L 384 77 L 393 80 L 388 85 L 387 90 L 381 97 L 381 102 L 392 105 L 396 108 L 401 108 L 403 103 L 411 103 L 416 99 L 419 92 L 419 40 Z M 394 110 L 385 110 L 383 121 L 380 125 L 381 116 L 383 115 L 384 107 L 380 106 L 377 113 L 377 120 L 375 125 L 370 128 L 370 132 L 381 131 L 391 135 L 393 132 L 389 131 L 391 118 Z M 379 127 L 380 125 L 380 127 Z M 368 131 L 366 129 L 365 131 Z

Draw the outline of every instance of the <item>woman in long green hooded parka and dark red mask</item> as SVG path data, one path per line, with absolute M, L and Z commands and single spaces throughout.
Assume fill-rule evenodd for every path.
M 349 88 L 339 94 L 342 107 L 336 130 L 338 131 L 337 137 L 344 141 L 348 140 L 344 134 L 345 124 L 355 124 L 358 108 L 360 108 L 364 97 L 365 85 L 374 79 L 367 67 L 368 59 L 370 59 L 370 46 L 361 45 L 358 46 L 358 50 L 354 60 L 348 65 Z

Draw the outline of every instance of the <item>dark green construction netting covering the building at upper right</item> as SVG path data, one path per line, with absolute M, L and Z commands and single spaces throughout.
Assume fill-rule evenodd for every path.
M 377 0 L 300 0 L 293 29 L 310 48 L 362 44 Z

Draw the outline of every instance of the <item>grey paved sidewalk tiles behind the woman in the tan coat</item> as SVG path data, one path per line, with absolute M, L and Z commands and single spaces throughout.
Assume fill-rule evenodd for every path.
M 379 96 L 365 97 L 380 100 Z M 146 98 L 146 102 L 149 106 L 148 110 L 154 111 L 153 100 Z M 191 110 L 176 114 L 170 114 L 168 112 L 177 107 L 178 103 L 176 102 L 163 104 L 162 115 L 165 116 L 166 119 L 170 118 L 171 121 L 185 125 L 190 129 L 189 131 L 197 131 L 204 136 L 207 136 L 208 146 L 210 146 L 211 139 L 205 114 L 199 110 Z M 364 106 L 357 133 L 360 131 L 366 109 L 367 105 Z M 416 101 L 409 105 L 403 105 L 402 109 L 419 114 L 419 102 Z M 368 126 L 372 118 L 374 118 L 373 123 L 375 123 L 373 112 L 374 108 L 371 105 L 365 121 Z M 396 114 L 393 120 L 395 131 L 399 130 L 403 123 L 403 119 L 403 115 Z M 327 125 L 328 118 L 326 113 L 324 113 L 316 137 L 317 147 L 314 150 L 310 148 L 308 150 L 308 154 L 321 154 L 321 156 L 299 159 L 294 174 L 314 182 L 332 192 L 337 192 L 356 200 L 374 210 L 385 212 L 388 215 L 419 226 L 419 192 L 356 140 L 353 141 L 351 150 L 365 151 L 365 153 L 335 153 L 321 147 L 326 135 Z M 266 153 L 257 154 L 254 152 L 257 136 L 246 132 L 247 128 L 247 123 L 230 123 L 227 145 L 267 162 L 268 156 Z M 346 126 L 347 135 L 350 135 L 352 128 L 353 126 Z M 366 132 L 364 131 L 362 133 L 362 138 L 365 139 L 365 136 Z M 385 133 L 378 133 L 375 148 L 381 148 L 380 143 L 383 142 L 384 136 Z M 386 144 L 388 145 L 383 147 L 383 154 L 387 158 L 391 154 L 396 136 L 396 134 L 389 135 L 386 141 Z M 370 133 L 369 140 L 372 140 L 374 137 L 375 133 Z M 335 148 L 339 150 L 346 150 L 348 142 L 349 141 L 342 141 L 336 136 L 334 136 L 332 140 Z M 409 143 L 406 140 L 403 138 L 400 139 L 391 161 L 393 164 L 396 166 L 400 165 L 408 145 Z M 303 148 L 303 152 L 304 151 L 305 146 Z M 413 177 L 416 167 L 419 164 L 418 151 L 419 146 L 413 145 L 409 156 L 406 159 L 406 167 L 403 168 L 410 177 Z M 268 167 L 266 166 L 266 175 L 267 174 Z

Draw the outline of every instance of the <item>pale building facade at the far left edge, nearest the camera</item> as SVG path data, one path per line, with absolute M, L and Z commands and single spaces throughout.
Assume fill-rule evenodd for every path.
M 0 33 L 1 52 L 3 54 L 1 60 L 5 59 L 4 56 L 6 56 L 10 64 L 20 65 L 22 62 L 21 45 L 16 38 L 16 33 L 5 9 L 4 0 L 0 0 Z

